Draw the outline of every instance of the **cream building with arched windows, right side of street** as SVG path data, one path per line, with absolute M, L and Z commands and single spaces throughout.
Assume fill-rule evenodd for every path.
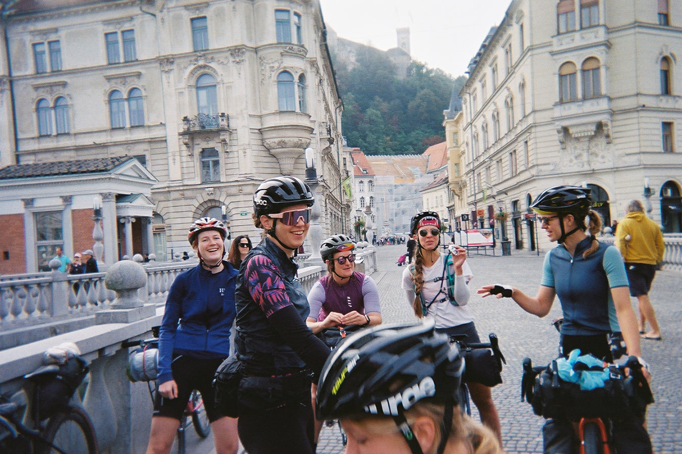
M 606 225 L 643 199 L 682 231 L 681 48 L 682 8 L 667 1 L 511 1 L 460 92 L 466 212 L 501 212 L 513 247 L 532 250 L 531 201 L 572 184 Z

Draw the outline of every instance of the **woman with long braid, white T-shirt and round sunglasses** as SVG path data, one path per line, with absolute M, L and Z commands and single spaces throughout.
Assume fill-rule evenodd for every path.
M 402 274 L 402 288 L 415 315 L 419 319 L 433 317 L 436 331 L 449 336 L 466 335 L 464 342 L 481 342 L 473 315 L 466 306 L 470 295 L 467 284 L 473 278 L 471 268 L 466 263 L 466 250 L 454 246 L 454 250 L 447 255 L 439 251 L 441 218 L 436 212 L 415 214 L 410 233 L 416 242 L 414 263 Z M 473 382 L 467 385 L 481 421 L 492 429 L 501 445 L 500 419 L 492 402 L 490 387 Z

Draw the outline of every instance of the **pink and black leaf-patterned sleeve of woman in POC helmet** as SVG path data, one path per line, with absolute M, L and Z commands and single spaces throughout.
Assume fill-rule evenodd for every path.
M 254 255 L 246 263 L 247 288 L 258 306 L 270 317 L 285 306 L 291 306 L 280 270 L 265 255 Z

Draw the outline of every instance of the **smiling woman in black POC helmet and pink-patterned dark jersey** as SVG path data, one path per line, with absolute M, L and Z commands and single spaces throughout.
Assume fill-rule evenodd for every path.
M 329 348 L 306 325 L 306 291 L 293 253 L 310 226 L 314 198 L 293 176 L 265 180 L 254 193 L 254 225 L 266 236 L 241 263 L 237 290 L 239 439 L 250 454 L 312 454 L 312 376 Z

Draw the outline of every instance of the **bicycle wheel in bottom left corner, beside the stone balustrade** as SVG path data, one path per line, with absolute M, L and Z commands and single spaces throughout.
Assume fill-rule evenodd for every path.
M 43 438 L 65 453 L 98 453 L 95 429 L 85 410 L 78 407 L 72 407 L 69 412 L 59 412 L 51 417 Z M 41 444 L 42 446 L 36 450 L 38 453 L 59 453 L 50 444 Z

